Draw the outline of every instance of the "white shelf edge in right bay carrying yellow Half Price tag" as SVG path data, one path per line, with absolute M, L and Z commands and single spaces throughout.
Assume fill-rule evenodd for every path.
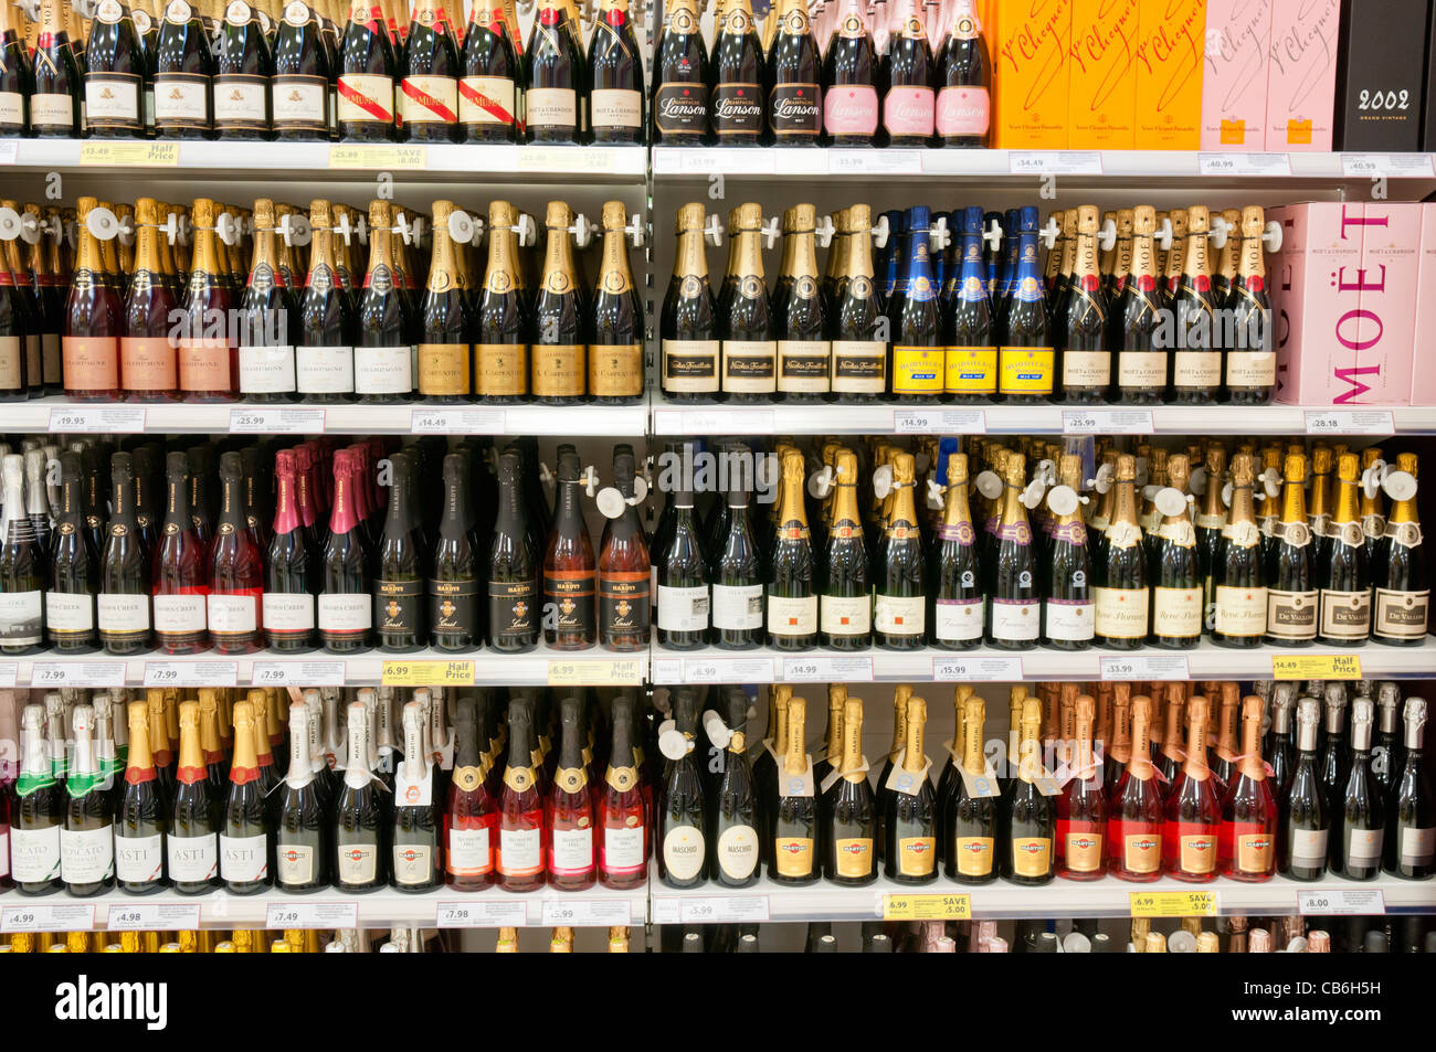
M 837 652 L 814 649 L 777 652 L 669 650 L 653 646 L 653 683 L 903 683 L 903 682 L 994 682 L 1018 680 L 1150 680 L 1150 679 L 1271 679 L 1274 657 L 1360 659 L 1366 679 L 1436 677 L 1436 639 L 1427 636 L 1419 647 L 1387 647 L 1369 643 L 1351 650 L 1310 647 L 1258 647 L 1228 650 L 1209 640 L 1192 650 L 870 650 Z M 1182 664 L 1185 663 L 1185 672 Z M 1172 667 L 1172 666 L 1176 667 Z M 1159 667 L 1162 666 L 1162 667 Z M 1106 675 L 1104 675 L 1106 672 Z M 1307 677 L 1307 676 L 1304 676 Z M 1313 675 L 1311 677 L 1318 677 Z

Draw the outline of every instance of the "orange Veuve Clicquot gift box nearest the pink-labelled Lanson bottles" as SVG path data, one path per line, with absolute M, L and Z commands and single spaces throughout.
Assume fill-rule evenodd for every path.
M 1002 149 L 1066 149 L 1073 0 L 995 0 L 992 85 Z

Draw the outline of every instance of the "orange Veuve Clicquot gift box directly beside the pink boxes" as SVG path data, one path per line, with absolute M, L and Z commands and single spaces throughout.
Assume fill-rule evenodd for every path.
M 1137 43 L 1137 149 L 1198 149 L 1206 0 L 1146 0 Z

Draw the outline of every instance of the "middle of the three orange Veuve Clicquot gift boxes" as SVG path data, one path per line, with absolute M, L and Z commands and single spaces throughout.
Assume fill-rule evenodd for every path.
M 1132 149 L 1137 133 L 1139 0 L 1074 0 L 1071 149 Z

